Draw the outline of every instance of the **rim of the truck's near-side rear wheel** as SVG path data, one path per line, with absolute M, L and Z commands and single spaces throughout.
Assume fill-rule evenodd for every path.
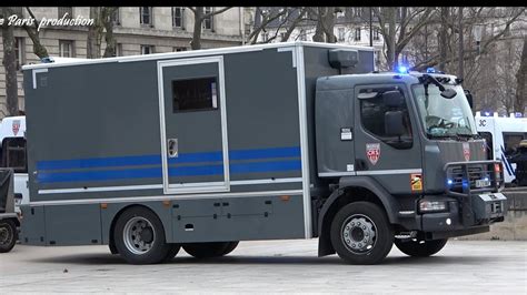
M 156 241 L 156 230 L 147 218 L 135 216 L 125 225 L 122 240 L 128 251 L 142 255 L 152 248 Z

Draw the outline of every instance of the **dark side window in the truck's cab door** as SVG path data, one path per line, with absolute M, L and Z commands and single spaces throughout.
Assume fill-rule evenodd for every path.
M 364 89 L 359 93 L 360 122 L 366 131 L 396 149 L 409 149 L 412 143 L 410 115 L 406 101 L 398 106 L 389 106 L 382 99 L 386 91 L 395 88 Z M 364 95 L 362 95 L 364 94 Z M 402 114 L 404 133 L 400 136 L 386 134 L 385 115 L 387 112 L 400 111 Z

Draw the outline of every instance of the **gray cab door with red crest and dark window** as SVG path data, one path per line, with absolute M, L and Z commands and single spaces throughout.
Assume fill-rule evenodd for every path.
M 382 98 L 387 91 L 399 91 L 404 95 L 401 104 L 388 105 Z M 422 191 L 421 143 L 408 98 L 404 84 L 371 84 L 355 89 L 356 173 L 374 177 L 394 194 Z M 400 136 L 387 134 L 387 116 L 394 112 L 402 115 L 404 134 Z

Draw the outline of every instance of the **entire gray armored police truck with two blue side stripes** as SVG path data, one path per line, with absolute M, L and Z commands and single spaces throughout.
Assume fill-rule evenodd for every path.
M 461 80 L 372 71 L 306 42 L 27 65 L 21 242 L 148 264 L 318 237 L 374 264 L 503 221 Z

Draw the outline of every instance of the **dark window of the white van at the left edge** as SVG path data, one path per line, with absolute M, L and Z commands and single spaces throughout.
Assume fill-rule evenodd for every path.
M 28 172 L 26 139 L 6 138 L 2 141 L 2 167 L 12 167 L 16 173 Z

